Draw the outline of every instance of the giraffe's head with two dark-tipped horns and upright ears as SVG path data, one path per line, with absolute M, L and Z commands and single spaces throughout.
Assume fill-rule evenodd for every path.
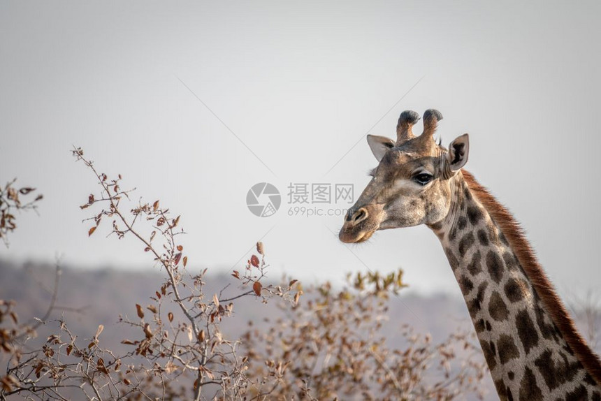
M 449 178 L 468 161 L 469 140 L 467 133 L 459 136 L 449 150 L 435 143 L 433 134 L 441 119 L 437 110 L 426 110 L 423 133 L 414 136 L 412 126 L 419 115 L 404 111 L 398 119 L 396 143 L 368 135 L 379 164 L 345 217 L 339 234 L 342 242 L 363 242 L 377 230 L 434 224 L 447 216 Z

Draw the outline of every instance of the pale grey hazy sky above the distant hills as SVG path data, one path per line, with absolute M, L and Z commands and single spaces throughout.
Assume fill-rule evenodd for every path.
M 261 239 L 270 277 L 342 282 L 405 270 L 415 291 L 459 294 L 428 228 L 345 245 L 338 203 L 289 187 L 352 184 L 375 167 L 365 135 L 394 137 L 403 110 L 470 133 L 470 170 L 514 212 L 564 296 L 600 293 L 599 2 L 0 3 L 0 181 L 44 195 L 0 257 L 153 268 L 133 238 L 88 238 L 94 177 L 122 174 L 161 200 L 194 269 L 240 270 Z M 416 129 L 419 132 L 421 127 Z M 267 182 L 280 207 L 257 217 Z M 323 188 L 323 187 L 321 187 Z M 259 197 L 265 203 L 266 197 Z M 292 214 L 292 215 L 290 215 Z M 156 267 L 154 267 L 156 269 Z

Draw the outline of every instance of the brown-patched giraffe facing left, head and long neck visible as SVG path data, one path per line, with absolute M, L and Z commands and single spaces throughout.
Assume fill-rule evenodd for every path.
M 579 335 L 512 214 L 464 170 L 467 133 L 449 149 L 442 115 L 401 113 L 396 142 L 368 136 L 379 162 L 340 229 L 342 242 L 425 224 L 439 238 L 501 400 L 599 400 L 601 362 Z

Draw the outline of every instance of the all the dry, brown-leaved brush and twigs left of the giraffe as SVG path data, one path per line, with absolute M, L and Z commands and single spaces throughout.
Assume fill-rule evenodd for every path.
M 85 339 L 71 330 L 64 316 L 50 319 L 57 309 L 58 267 L 44 316 L 21 321 L 14 302 L 0 300 L 0 356 L 6 360 L 6 370 L 0 371 L 0 400 L 481 397 L 486 367 L 472 335 L 455 333 L 433 344 L 428 335 L 403 326 L 399 335 L 406 341 L 400 348 L 382 335 L 390 297 L 405 287 L 402 272 L 348 277 L 347 286 L 338 290 L 329 283 L 303 288 L 296 279 L 272 284 L 259 242 L 245 268 L 231 275 L 238 293 L 208 293 L 207 271 L 189 269 L 178 243 L 184 233 L 180 217 L 160 201 L 132 202 L 131 191 L 121 187 L 121 175 L 101 173 L 80 149 L 73 156 L 91 170 L 99 186 L 80 206 L 93 211 L 86 220 L 92 223 L 88 235 L 108 221 L 110 235 L 136 238 L 161 267 L 164 282 L 149 290 L 147 305 L 135 305 L 135 316 L 114 311 L 127 328 L 124 332 L 133 333 L 122 338 L 124 349 L 103 344 L 102 325 L 94 326 L 95 335 Z M 14 194 L 6 196 L 11 205 L 17 201 Z M 13 230 L 14 217 L 7 219 Z M 280 316 L 267 325 L 251 321 L 245 335 L 227 338 L 222 325 L 246 319 L 235 311 L 248 297 L 278 302 Z M 36 342 L 42 326 L 51 334 Z

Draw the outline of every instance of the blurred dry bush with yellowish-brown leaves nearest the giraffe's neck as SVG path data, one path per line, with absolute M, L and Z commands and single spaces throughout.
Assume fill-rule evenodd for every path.
M 247 376 L 256 394 L 279 400 L 452 400 L 482 398 L 487 372 L 474 334 L 455 333 L 440 344 L 402 326 L 401 348 L 391 347 L 382 325 L 389 298 L 405 286 L 402 272 L 349 277 L 305 290 L 301 305 L 282 305 L 268 330 L 243 337 Z M 400 324 L 399 324 L 400 326 Z

